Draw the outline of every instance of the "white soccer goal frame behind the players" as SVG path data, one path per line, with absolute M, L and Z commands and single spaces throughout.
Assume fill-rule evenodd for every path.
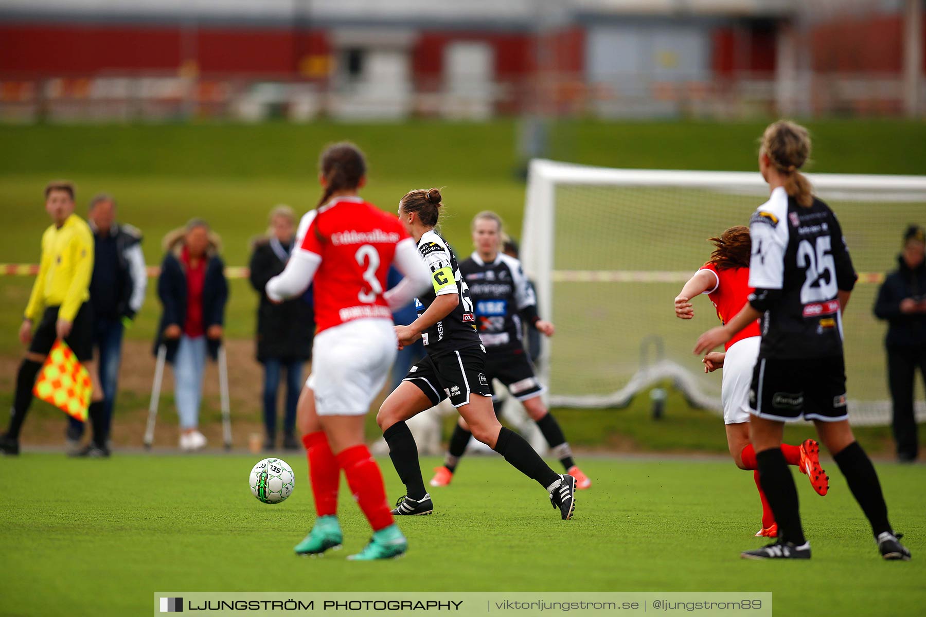
M 824 198 L 839 198 L 840 193 L 851 194 L 854 200 L 870 198 L 881 202 L 919 201 L 926 195 L 926 176 L 889 176 L 863 174 L 807 174 L 816 191 Z M 752 193 L 757 196 L 756 205 L 768 198 L 769 189 L 758 172 L 737 171 L 686 171 L 662 169 L 616 169 L 590 167 L 559 163 L 545 159 L 533 159 L 528 171 L 528 184 L 524 206 L 524 220 L 521 230 L 520 259 L 528 276 L 532 278 L 539 296 L 539 312 L 544 318 L 555 320 L 553 315 L 553 283 L 555 278 L 569 276 L 569 280 L 611 280 L 601 278 L 595 272 L 562 272 L 554 270 L 555 246 L 554 226 L 556 222 L 556 191 L 558 186 L 587 185 L 614 187 L 671 187 L 692 189 L 717 189 Z M 632 277 L 632 273 L 630 273 Z M 621 278 L 620 280 L 624 280 Z M 632 280 L 632 278 L 630 278 Z M 544 341 L 541 351 L 539 374 L 549 384 L 549 343 Z M 674 381 L 689 401 L 700 407 L 720 412 L 720 399 L 701 392 L 691 374 L 678 364 L 660 361 L 642 368 L 637 375 L 621 389 L 607 395 L 557 395 L 549 392 L 548 401 L 553 406 L 577 408 L 622 407 L 637 392 L 664 379 Z M 890 424 L 890 401 L 877 401 L 874 408 L 854 418 L 854 424 Z M 873 412 L 873 413 L 872 413 Z M 916 406 L 917 419 L 926 421 L 926 404 L 919 401 Z

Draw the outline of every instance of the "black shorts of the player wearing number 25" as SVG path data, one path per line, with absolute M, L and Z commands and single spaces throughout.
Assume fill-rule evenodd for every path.
M 760 418 L 781 422 L 802 417 L 847 420 L 843 356 L 800 360 L 760 356 L 753 369 L 749 406 Z

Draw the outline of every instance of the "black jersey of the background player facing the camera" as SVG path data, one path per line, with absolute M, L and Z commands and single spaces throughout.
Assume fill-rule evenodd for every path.
M 521 315 L 536 315 L 537 298 L 520 262 L 498 253 L 483 262 L 478 253 L 460 264 L 476 312 L 476 328 L 488 352 L 523 349 Z

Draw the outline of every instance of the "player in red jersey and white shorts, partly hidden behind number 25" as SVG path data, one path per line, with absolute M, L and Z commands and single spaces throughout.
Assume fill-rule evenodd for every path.
M 685 283 L 675 299 L 675 315 L 681 319 L 694 317 L 691 299 L 707 293 L 707 298 L 717 309 L 720 322 L 725 324 L 740 312 L 753 291 L 749 287 L 749 256 L 752 250 L 749 228 L 729 228 L 719 238 L 711 238 L 710 242 L 716 247 L 714 253 L 711 253 L 710 261 Z M 727 427 L 727 445 L 736 466 L 753 471 L 758 496 L 762 500 L 762 528 L 756 536 L 777 537 L 775 516 L 759 485 L 756 450 L 749 443 L 749 386 L 760 339 L 759 323 L 754 321 L 724 345 L 724 352 L 710 352 L 702 362 L 705 373 L 723 368 L 720 402 Z M 800 446 L 782 444 L 785 461 L 796 465 L 810 479 L 814 490 L 826 495 L 829 478 L 820 468 L 819 453 L 820 445 L 813 439 L 806 439 Z

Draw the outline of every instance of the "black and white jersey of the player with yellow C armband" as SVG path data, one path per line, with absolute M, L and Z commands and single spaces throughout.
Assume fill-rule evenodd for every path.
M 460 275 L 457 256 L 450 245 L 432 229 L 421 236 L 418 250 L 425 264 L 431 268 L 433 288 L 415 299 L 418 315 L 427 311 L 437 296 L 448 293 L 456 293 L 459 296 L 459 302 L 450 315 L 421 333 L 425 350 L 433 356 L 481 345 L 479 334 L 476 332 L 476 317 L 473 315 L 469 289 Z

